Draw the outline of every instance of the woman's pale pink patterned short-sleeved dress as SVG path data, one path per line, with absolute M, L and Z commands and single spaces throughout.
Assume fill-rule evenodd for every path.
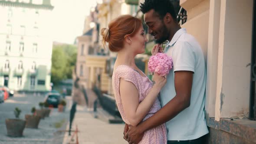
M 112 75 L 112 85 L 114 89 L 115 100 L 117 103 L 118 110 L 121 114 L 123 121 L 126 124 L 130 124 L 125 116 L 124 108 L 122 105 L 122 100 L 119 92 L 119 82 L 120 78 L 132 82 L 139 92 L 139 102 L 141 102 L 147 95 L 149 90 L 152 88 L 153 83 L 148 77 L 141 76 L 138 72 L 132 69 L 128 65 L 119 65 Z M 154 113 L 156 113 L 161 108 L 161 103 L 156 99 L 148 114 L 142 121 L 150 118 Z M 167 144 L 167 132 L 165 124 L 162 124 L 156 128 L 152 128 L 144 133 L 144 136 L 139 144 Z

